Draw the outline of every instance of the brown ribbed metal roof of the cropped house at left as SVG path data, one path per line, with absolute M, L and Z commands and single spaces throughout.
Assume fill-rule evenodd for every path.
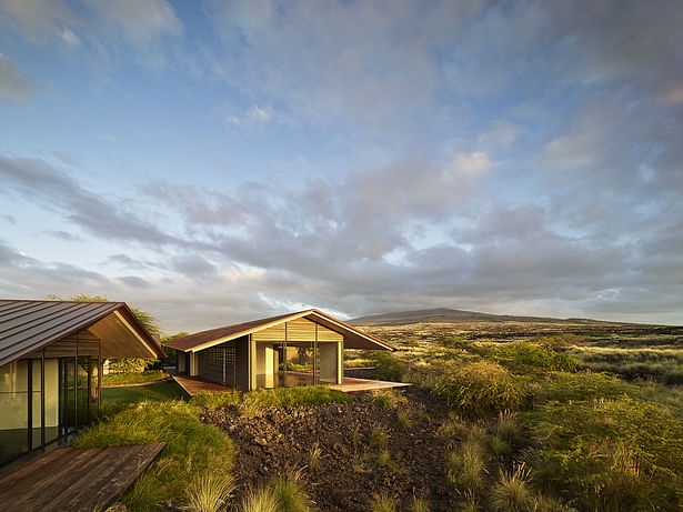
M 118 311 L 159 355 L 163 350 L 124 302 L 0 300 L 0 367 Z

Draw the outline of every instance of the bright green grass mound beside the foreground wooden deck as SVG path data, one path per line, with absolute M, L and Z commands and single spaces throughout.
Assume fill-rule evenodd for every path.
M 109 421 L 87 430 L 77 448 L 167 442 L 142 480 L 123 496 L 132 511 L 148 511 L 163 499 L 182 500 L 189 482 L 205 472 L 229 473 L 233 446 L 230 438 L 199 420 L 199 409 L 184 401 L 142 401 Z M 208 478 L 208 476 L 205 476 Z

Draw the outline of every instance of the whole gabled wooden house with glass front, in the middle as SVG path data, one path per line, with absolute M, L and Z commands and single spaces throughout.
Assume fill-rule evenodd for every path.
M 395 350 L 315 309 L 197 332 L 165 347 L 178 351 L 179 373 L 243 391 L 341 384 L 344 349 Z

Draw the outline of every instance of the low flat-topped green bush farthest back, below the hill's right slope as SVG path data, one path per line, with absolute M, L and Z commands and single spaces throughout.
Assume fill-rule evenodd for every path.
M 516 341 L 495 347 L 492 357 L 513 370 L 533 368 L 545 371 L 573 372 L 576 371 L 577 365 L 575 358 L 558 353 L 550 347 L 529 341 Z

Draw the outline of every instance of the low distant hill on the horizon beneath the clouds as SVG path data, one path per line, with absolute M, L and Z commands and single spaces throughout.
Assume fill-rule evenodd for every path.
M 525 323 L 571 323 L 605 324 L 590 319 L 553 319 L 545 317 L 513 317 L 509 314 L 479 313 L 475 311 L 436 308 L 431 310 L 399 311 L 396 313 L 372 314 L 350 320 L 352 325 L 406 325 L 409 323 L 464 323 L 464 322 L 525 322 Z

